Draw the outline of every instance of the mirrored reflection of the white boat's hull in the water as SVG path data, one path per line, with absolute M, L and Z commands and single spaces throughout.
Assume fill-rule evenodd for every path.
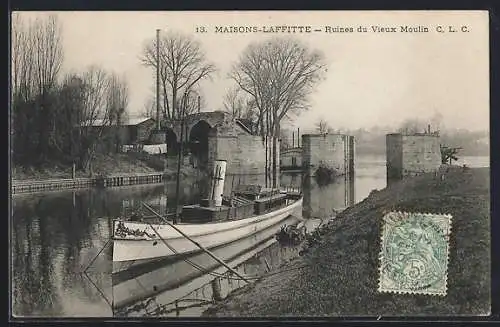
M 293 225 L 298 221 L 296 217 L 289 217 L 259 233 L 216 247 L 212 252 L 229 266 L 236 267 L 274 243 L 276 241 L 274 235 L 282 224 Z M 158 261 L 149 269 L 145 268 L 144 271 L 124 271 L 113 274 L 114 309 L 134 311 L 135 308 L 141 307 L 141 305 L 136 305 L 138 302 L 148 302 L 151 297 L 155 298 L 155 303 L 173 302 L 215 278 L 212 274 L 206 273 L 207 271 L 218 274 L 227 271 L 227 268 L 205 253 L 189 256 L 186 258 L 188 260 L 183 259 Z M 196 269 L 191 264 L 203 269 Z

